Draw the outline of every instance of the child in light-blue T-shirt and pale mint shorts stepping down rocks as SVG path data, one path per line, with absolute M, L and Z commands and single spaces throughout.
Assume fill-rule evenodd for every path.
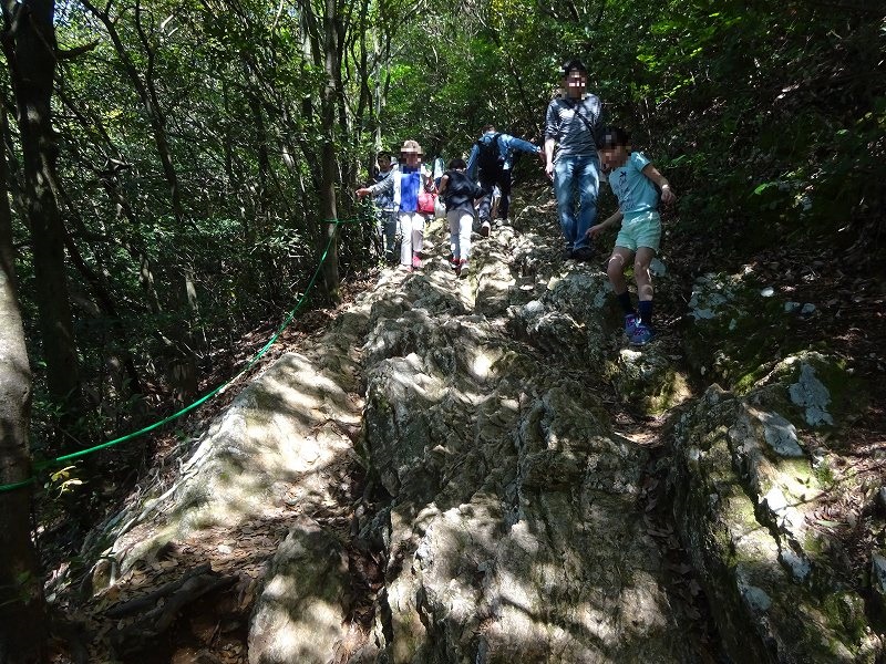
M 649 263 L 655 258 L 661 240 L 661 218 L 658 214 L 659 191 L 661 203 L 677 200 L 670 184 L 642 153 L 631 152 L 630 136 L 619 127 L 607 127 L 602 133 L 600 158 L 609 170 L 609 186 L 618 198 L 618 211 L 604 222 L 591 226 L 588 238 L 602 230 L 621 225 L 606 273 L 616 298 L 625 311 L 625 333 L 635 345 L 652 339 L 652 276 Z M 630 302 L 625 269 L 633 260 L 637 280 L 639 318 Z

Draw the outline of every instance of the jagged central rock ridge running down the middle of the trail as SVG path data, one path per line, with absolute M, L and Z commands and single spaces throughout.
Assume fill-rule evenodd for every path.
M 475 283 L 371 295 L 364 454 L 390 498 L 361 528 L 389 556 L 385 661 L 691 658 L 637 500 L 647 453 L 600 406 L 605 277 L 543 247 L 504 230 Z

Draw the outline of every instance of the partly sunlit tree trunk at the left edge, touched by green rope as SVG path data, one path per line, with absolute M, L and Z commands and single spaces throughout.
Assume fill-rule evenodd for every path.
M 31 371 L 16 292 L 7 175 L 0 153 L 0 485 L 14 485 L 31 475 Z M 30 516 L 30 485 L 0 491 L 0 662 L 9 664 L 45 660 L 43 584 Z

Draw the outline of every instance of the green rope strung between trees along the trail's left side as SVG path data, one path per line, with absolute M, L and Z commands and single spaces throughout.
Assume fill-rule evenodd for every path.
M 360 221 L 363 221 L 364 219 L 365 219 L 365 215 L 360 215 L 358 217 L 351 217 L 350 219 L 327 219 L 326 222 L 327 224 L 334 224 L 336 226 L 341 226 L 342 224 L 360 222 Z M 311 289 L 313 288 L 315 283 L 317 282 L 317 278 L 320 276 L 320 270 L 322 269 L 323 263 L 326 262 L 327 255 L 329 253 L 329 248 L 332 246 L 332 240 L 334 238 L 336 238 L 336 236 L 333 234 L 332 236 L 330 236 L 329 241 L 327 241 L 326 248 L 323 249 L 323 253 L 322 253 L 322 256 L 320 256 L 320 262 L 317 264 L 317 269 L 313 271 L 313 276 L 311 277 L 310 282 L 308 282 L 308 288 L 305 289 L 305 292 L 301 294 L 301 298 L 299 298 L 298 302 L 296 303 L 296 307 L 286 315 L 286 318 L 284 319 L 284 322 L 280 324 L 279 328 L 277 328 L 277 331 L 274 333 L 274 335 L 271 335 L 271 338 L 268 340 L 268 342 L 264 346 L 261 346 L 261 350 L 259 350 L 253 356 L 253 359 L 246 364 L 246 366 L 244 366 L 240 371 L 238 371 L 234 375 L 234 377 L 229 378 L 227 382 L 223 383 L 222 385 L 219 385 L 215 390 L 208 392 L 207 394 L 205 394 L 204 396 L 202 396 L 200 398 L 195 401 L 193 404 L 190 404 L 188 406 L 185 406 L 184 408 L 182 408 L 177 413 L 174 413 L 174 414 L 169 415 L 168 417 L 164 417 L 159 422 L 155 422 L 154 424 L 151 424 L 151 425 L 148 425 L 148 426 L 146 426 L 144 428 L 141 428 L 137 432 L 133 432 L 131 434 L 126 434 L 125 436 L 121 436 L 119 438 L 114 438 L 113 440 L 109 440 L 107 443 L 102 443 L 101 445 L 95 445 L 94 447 L 89 447 L 86 449 L 81 449 L 81 450 L 78 450 L 78 452 L 74 452 L 74 453 L 71 453 L 71 454 L 65 454 L 65 455 L 56 457 L 54 459 L 37 461 L 37 463 L 33 464 L 34 470 L 37 470 L 37 471 L 45 470 L 47 468 L 55 466 L 56 464 L 63 464 L 65 461 L 72 460 L 72 459 L 76 459 L 76 458 L 86 456 L 89 454 L 93 454 L 95 452 L 99 452 L 100 449 L 105 449 L 107 447 L 113 447 L 115 445 L 120 445 L 121 443 L 125 443 L 126 440 L 132 440 L 133 438 L 137 438 L 138 436 L 143 436 L 148 432 L 153 432 L 154 429 L 156 429 L 156 428 L 158 428 L 158 427 L 161 427 L 161 426 L 163 426 L 165 424 L 168 424 L 169 422 L 172 422 L 174 419 L 177 419 L 178 417 L 182 417 L 182 415 L 185 415 L 186 413 L 189 413 L 190 411 L 194 411 L 195 408 L 202 406 L 207 401 L 213 398 L 216 394 L 222 392 L 225 387 L 227 387 L 228 385 L 234 383 L 234 381 L 239 378 L 243 374 L 245 374 L 250 369 L 253 369 L 253 366 L 255 366 L 256 362 L 258 362 L 259 359 L 270 350 L 270 346 L 274 345 L 274 342 L 276 342 L 280 338 L 280 334 L 282 334 L 284 330 L 286 330 L 287 326 L 289 326 L 289 323 L 291 323 L 292 319 L 296 318 L 296 313 L 298 313 L 298 311 L 301 309 L 301 307 L 308 300 L 308 294 L 311 292 Z M 31 476 L 28 479 L 24 479 L 22 481 L 0 485 L 0 494 L 3 494 L 6 491 L 14 491 L 16 489 L 21 489 L 21 488 L 28 487 L 28 486 L 32 485 L 34 481 L 37 481 L 37 476 Z

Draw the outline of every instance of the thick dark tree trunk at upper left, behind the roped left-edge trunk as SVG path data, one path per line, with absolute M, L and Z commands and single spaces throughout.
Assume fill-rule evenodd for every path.
M 73 317 L 68 293 L 64 232 L 51 183 L 58 146 L 50 98 L 55 72 L 55 3 L 48 0 L 3 2 L 3 51 L 16 95 L 24 158 L 23 210 L 31 231 L 37 307 L 47 383 L 72 421 L 82 405 Z M 68 439 L 65 439 L 68 440 Z M 63 442 L 62 446 L 70 447 Z

